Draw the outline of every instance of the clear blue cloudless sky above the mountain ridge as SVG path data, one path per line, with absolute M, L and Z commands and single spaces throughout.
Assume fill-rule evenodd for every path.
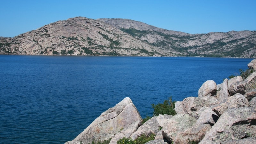
M 0 36 L 76 16 L 126 18 L 192 34 L 256 30 L 256 0 L 2 0 Z

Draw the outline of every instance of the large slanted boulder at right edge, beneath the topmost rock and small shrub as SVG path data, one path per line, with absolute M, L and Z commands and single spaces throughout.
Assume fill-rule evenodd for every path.
M 252 89 L 256 89 L 256 72 L 253 72 L 237 86 L 237 93 L 244 95 Z

